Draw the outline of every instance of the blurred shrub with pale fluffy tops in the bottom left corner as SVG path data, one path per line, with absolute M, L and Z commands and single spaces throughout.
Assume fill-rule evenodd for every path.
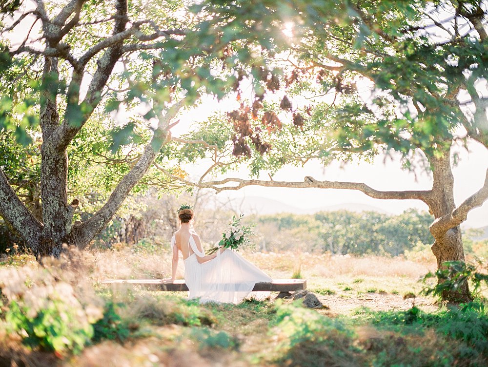
M 0 279 L 6 329 L 24 344 L 61 355 L 79 352 L 90 341 L 101 309 L 82 305 L 70 284 L 28 267 L 0 270 Z

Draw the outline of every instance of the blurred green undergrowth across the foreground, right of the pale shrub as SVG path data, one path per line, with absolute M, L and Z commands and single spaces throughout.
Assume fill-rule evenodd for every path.
M 314 291 L 334 294 L 327 288 Z M 154 355 L 152 358 L 162 364 L 169 364 L 168 358 L 183 358 L 224 366 L 488 364 L 488 306 L 482 300 L 432 312 L 416 307 L 403 311 L 361 307 L 350 315 L 329 317 L 305 309 L 301 302 L 248 299 L 239 305 L 200 305 L 181 294 L 140 289 L 125 294 L 100 290 L 99 294 L 107 301 L 122 301 L 125 306 L 118 309 L 121 319 L 112 325 L 107 318 L 102 335 L 105 341 L 86 346 L 79 356 L 70 356 L 73 365 L 93 353 L 107 360 L 123 355 L 135 367 L 142 366 L 142 354 Z M 117 325 L 128 335 L 120 338 L 114 329 Z M 25 353 L 29 353 L 27 349 Z

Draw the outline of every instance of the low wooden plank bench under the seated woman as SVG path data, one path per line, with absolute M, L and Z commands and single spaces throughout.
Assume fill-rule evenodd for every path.
M 103 284 L 131 284 L 141 286 L 147 290 L 161 290 L 169 292 L 180 292 L 188 290 L 184 280 L 175 280 L 173 283 L 163 282 L 161 279 L 106 279 Z M 274 279 L 269 283 L 256 283 L 253 291 L 280 292 L 278 298 L 291 295 L 296 290 L 305 290 L 305 279 Z

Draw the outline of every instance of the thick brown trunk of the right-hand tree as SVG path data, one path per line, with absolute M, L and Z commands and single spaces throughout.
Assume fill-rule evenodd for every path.
M 456 206 L 454 204 L 454 177 L 450 165 L 450 150 L 442 152 L 439 157 L 429 157 L 434 182 L 432 193 L 428 200 L 430 212 L 434 217 L 440 218 L 451 214 Z M 437 259 L 437 268 L 442 269 L 446 261 L 465 261 L 461 228 L 456 226 L 447 231 L 432 232 L 434 244 L 431 247 Z M 441 279 L 438 280 L 439 282 Z M 465 282 L 457 291 L 444 291 L 442 298 L 449 302 L 465 302 L 471 300 L 468 282 Z

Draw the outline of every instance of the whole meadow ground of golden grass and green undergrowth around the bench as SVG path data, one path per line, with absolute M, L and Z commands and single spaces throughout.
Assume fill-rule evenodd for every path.
M 428 250 L 428 249 L 427 249 Z M 17 251 L 17 249 L 16 249 Z M 199 305 L 184 292 L 108 287 L 169 275 L 167 246 L 71 249 L 44 267 L 12 253 L 0 269 L 2 366 L 486 366 L 488 306 L 421 294 L 428 251 L 381 257 L 247 252 L 273 278 L 307 280 L 324 304 Z M 181 265 L 181 264 L 180 264 Z M 179 276 L 182 276 L 180 272 Z M 485 295 L 485 293 L 483 293 Z

